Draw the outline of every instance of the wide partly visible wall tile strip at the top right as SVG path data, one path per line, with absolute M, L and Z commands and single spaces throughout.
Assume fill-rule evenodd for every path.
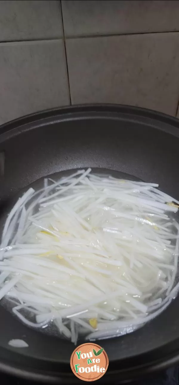
M 176 0 L 62 0 L 66 36 L 179 30 Z

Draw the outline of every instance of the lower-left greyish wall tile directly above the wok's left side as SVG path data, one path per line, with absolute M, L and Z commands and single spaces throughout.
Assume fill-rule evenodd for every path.
M 0 123 L 69 104 L 62 40 L 0 44 Z

